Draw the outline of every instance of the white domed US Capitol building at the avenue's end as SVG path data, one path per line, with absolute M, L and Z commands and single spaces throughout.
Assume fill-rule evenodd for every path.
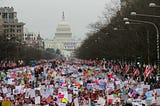
M 80 46 L 81 40 L 76 40 L 72 37 L 71 28 L 63 12 L 62 19 L 56 28 L 55 36 L 52 40 L 44 40 L 44 43 L 45 49 L 53 48 L 55 51 L 59 49 L 64 57 L 72 57 L 75 49 Z

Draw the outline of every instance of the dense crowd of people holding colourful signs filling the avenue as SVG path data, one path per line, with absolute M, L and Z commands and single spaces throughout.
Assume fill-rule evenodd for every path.
M 89 63 L 89 61 L 88 61 Z M 55 61 L 0 71 L 2 106 L 159 106 L 151 66 Z M 141 75 L 143 78 L 141 77 Z M 151 86 L 154 85 L 154 86 Z

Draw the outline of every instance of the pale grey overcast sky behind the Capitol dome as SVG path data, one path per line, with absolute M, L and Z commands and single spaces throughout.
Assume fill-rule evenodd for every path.
M 64 11 L 73 36 L 85 37 L 87 26 L 102 16 L 105 4 L 111 0 L 0 0 L 0 6 L 13 6 L 19 21 L 30 32 L 40 32 L 43 38 L 53 39 Z M 112 5 L 112 4 L 111 4 Z

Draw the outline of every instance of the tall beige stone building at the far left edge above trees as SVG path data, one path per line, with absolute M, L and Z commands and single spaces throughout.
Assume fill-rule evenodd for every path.
M 18 41 L 23 41 L 24 32 L 23 26 L 25 23 L 19 22 L 17 18 L 17 12 L 13 7 L 0 7 L 0 21 L 2 31 L 6 37 L 14 38 Z

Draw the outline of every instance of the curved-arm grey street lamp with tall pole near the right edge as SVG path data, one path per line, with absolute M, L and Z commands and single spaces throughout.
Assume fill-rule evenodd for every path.
M 156 36 L 157 36 L 157 69 L 158 69 L 158 73 L 160 73 L 160 70 L 159 70 L 159 29 L 158 29 L 158 26 L 155 23 L 150 22 L 150 21 L 133 20 L 133 19 L 128 19 L 128 18 L 123 18 L 123 20 L 126 22 L 131 21 L 131 22 L 150 24 L 155 28 Z

